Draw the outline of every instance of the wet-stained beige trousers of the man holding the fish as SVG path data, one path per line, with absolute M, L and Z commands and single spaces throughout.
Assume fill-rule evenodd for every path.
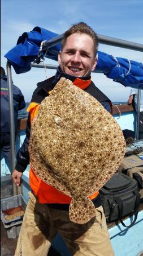
M 15 256 L 47 256 L 57 232 L 72 255 L 114 255 L 102 207 L 96 208 L 96 217 L 86 224 L 75 224 L 70 221 L 68 210 L 39 204 L 33 193 L 29 192 Z

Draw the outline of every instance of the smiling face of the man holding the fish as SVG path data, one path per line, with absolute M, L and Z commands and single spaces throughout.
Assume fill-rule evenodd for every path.
M 59 52 L 58 63 L 62 71 L 68 75 L 89 75 L 97 64 L 93 39 L 89 35 L 79 33 L 68 36 L 63 50 Z

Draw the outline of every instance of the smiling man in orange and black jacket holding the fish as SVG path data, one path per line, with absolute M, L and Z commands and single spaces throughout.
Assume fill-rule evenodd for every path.
M 60 66 L 57 73 L 54 77 L 37 84 L 28 108 L 27 137 L 18 152 L 16 170 L 12 174 L 17 185 L 20 184 L 23 171 L 29 163 L 28 143 L 31 122 L 38 112 L 41 101 L 50 94 L 60 77 L 70 79 L 75 86 L 97 98 L 109 109 L 109 98 L 96 88 L 90 76 L 90 72 L 97 64 L 97 47 L 96 33 L 83 22 L 73 25 L 65 32 L 62 49 L 58 55 Z M 90 197 L 96 207 L 96 217 L 84 225 L 79 225 L 71 222 L 68 216 L 71 198 L 46 185 L 34 174 L 32 168 L 29 173 L 29 184 L 32 192 L 29 192 L 30 199 L 24 214 L 15 256 L 47 255 L 57 232 L 64 238 L 72 255 L 114 255 L 98 192 Z

